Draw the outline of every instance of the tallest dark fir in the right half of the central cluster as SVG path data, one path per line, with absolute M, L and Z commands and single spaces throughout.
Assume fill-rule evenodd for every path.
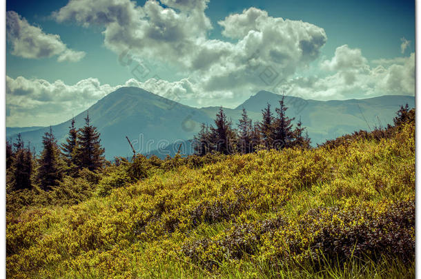
M 285 95 L 282 95 L 280 100 L 280 107 L 275 109 L 277 117 L 274 121 L 273 137 L 275 141 L 274 147 L 276 149 L 283 149 L 293 145 L 294 133 L 292 130 L 293 125 L 291 124 L 291 121 L 293 121 L 295 118 L 289 118 L 286 116 L 286 110 L 288 110 L 288 107 L 286 107 L 284 101 Z

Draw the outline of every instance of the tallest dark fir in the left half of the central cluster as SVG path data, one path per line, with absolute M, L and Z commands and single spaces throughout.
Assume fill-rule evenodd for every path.
M 210 136 L 216 151 L 222 154 L 232 154 L 235 150 L 233 146 L 235 143 L 235 132 L 231 128 L 231 121 L 228 121 L 226 118 L 222 107 L 219 108 L 219 112 L 216 115 L 215 126 L 215 128 L 210 127 Z

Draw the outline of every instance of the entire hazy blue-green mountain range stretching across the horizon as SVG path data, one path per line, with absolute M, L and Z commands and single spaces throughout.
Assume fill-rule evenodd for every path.
M 224 109 L 235 127 L 244 107 L 253 121 L 260 121 L 262 109 L 270 103 L 275 114 L 281 96 L 267 91 L 257 92 L 235 109 Z M 286 96 L 287 115 L 301 117 L 313 145 L 327 139 L 349 134 L 355 130 L 373 130 L 393 122 L 400 105 L 415 107 L 414 96 L 379 96 L 370 99 L 344 101 L 315 101 Z M 200 123 L 213 124 L 219 107 L 195 108 L 170 101 L 138 87 L 121 87 L 89 107 L 89 117 L 101 133 L 101 144 L 106 158 L 132 156 L 126 140 L 130 138 L 136 151 L 165 157 L 177 152 L 190 154 L 193 150 L 188 140 L 200 129 Z M 75 116 L 76 126 L 85 123 L 87 111 Z M 59 143 L 68 134 L 70 119 L 52 126 Z M 23 141 L 30 141 L 37 152 L 42 149 L 42 136 L 49 127 L 7 127 L 6 136 L 14 140 L 20 132 Z

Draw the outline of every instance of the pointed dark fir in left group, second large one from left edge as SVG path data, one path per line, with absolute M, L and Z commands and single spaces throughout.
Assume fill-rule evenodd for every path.
M 63 178 L 63 166 L 61 165 L 60 151 L 55 136 L 46 132 L 42 137 L 43 151 L 38 160 L 37 181 L 43 190 L 59 185 Z

